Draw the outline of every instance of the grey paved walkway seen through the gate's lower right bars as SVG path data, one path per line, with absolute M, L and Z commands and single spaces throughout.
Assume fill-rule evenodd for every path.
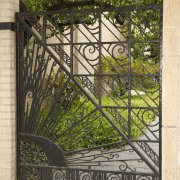
M 158 126 L 158 119 L 156 119 L 153 123 L 150 124 L 151 130 L 155 131 Z M 158 137 L 159 131 L 156 131 L 154 134 Z M 154 139 L 154 136 L 148 131 L 145 131 L 145 134 L 150 138 Z M 139 140 L 145 140 L 147 139 L 145 135 L 141 136 Z M 148 143 L 148 145 L 153 149 L 153 151 L 158 155 L 159 154 L 159 144 L 158 143 Z M 147 155 L 144 151 L 141 150 L 141 148 L 135 143 L 135 146 L 139 148 L 139 151 L 143 154 L 143 156 Z M 105 171 L 119 171 L 125 170 L 127 168 L 127 171 L 131 172 L 136 169 L 136 172 L 149 172 L 152 171 L 149 169 L 149 167 L 142 161 L 140 161 L 139 156 L 136 152 L 132 150 L 132 148 L 128 145 L 123 148 L 121 151 L 120 149 L 111 149 L 106 152 L 103 151 L 91 151 L 88 153 L 85 153 L 84 155 L 77 155 L 78 157 L 83 157 L 81 160 L 88 160 L 90 161 L 90 164 L 96 164 L 98 161 L 104 161 L 101 162 L 100 165 L 94 166 L 95 170 L 105 170 Z M 92 159 L 91 159 L 92 158 Z M 109 161 L 109 162 L 108 162 Z M 78 164 L 78 162 L 77 162 Z M 87 166 L 86 166 L 87 167 Z M 82 167 L 79 167 L 82 168 Z

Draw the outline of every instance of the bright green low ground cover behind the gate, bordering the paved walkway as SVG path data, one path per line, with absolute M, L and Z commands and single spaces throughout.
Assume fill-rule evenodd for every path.
M 60 92 L 67 82 L 67 77 L 65 77 L 64 74 L 61 74 L 58 78 L 55 78 L 53 75 L 51 81 L 56 84 L 57 88 L 61 88 L 61 90 L 59 89 Z M 61 86 L 59 86 L 59 84 Z M 62 95 L 67 98 L 72 94 L 76 94 L 77 91 L 78 88 L 72 81 L 70 81 Z M 157 93 L 153 93 L 151 95 L 152 98 L 155 96 L 157 96 Z M 147 95 L 142 95 L 141 97 L 148 102 L 150 106 L 155 106 L 154 102 L 148 98 Z M 132 106 L 147 106 L 141 97 L 133 96 L 131 98 Z M 124 105 L 120 99 L 116 98 L 115 100 L 120 106 Z M 128 97 L 124 97 L 124 100 L 127 101 Z M 108 96 L 103 96 L 102 101 L 104 106 L 116 105 L 114 100 Z M 50 123 L 48 123 L 44 129 L 46 130 L 48 127 L 55 126 L 52 128 L 51 134 L 49 134 L 48 137 L 58 137 L 63 134 L 63 132 L 66 132 L 56 142 L 64 150 L 82 149 L 122 141 L 122 137 L 116 130 L 113 129 L 112 125 L 101 115 L 100 112 L 95 111 L 93 114 L 88 116 L 88 118 L 85 118 L 90 112 L 96 109 L 85 96 L 77 95 L 70 103 L 70 106 L 65 107 L 63 102 L 59 102 L 60 106 L 57 104 L 53 111 L 45 107 L 39 115 L 39 121 L 42 121 L 43 118 L 48 117 L 49 113 L 51 113 L 51 119 L 49 119 Z M 127 129 L 124 129 L 122 124 L 117 122 L 117 119 L 113 116 L 113 114 L 108 113 L 108 110 L 106 109 L 104 109 L 104 111 L 106 114 L 109 114 L 109 118 L 112 119 L 117 127 L 119 127 L 119 129 L 127 135 Z M 155 119 L 152 111 L 138 111 L 138 109 L 131 111 L 131 119 L 129 119 L 129 112 L 127 109 L 119 112 L 123 119 L 130 123 L 132 139 L 137 139 L 141 135 L 141 131 L 145 129 L 144 123 L 148 125 Z M 55 121 L 58 123 L 54 123 Z

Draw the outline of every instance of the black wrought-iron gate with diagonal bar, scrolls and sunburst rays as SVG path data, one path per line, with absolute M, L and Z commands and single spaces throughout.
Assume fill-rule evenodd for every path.
M 158 180 L 159 5 L 17 14 L 18 178 Z

